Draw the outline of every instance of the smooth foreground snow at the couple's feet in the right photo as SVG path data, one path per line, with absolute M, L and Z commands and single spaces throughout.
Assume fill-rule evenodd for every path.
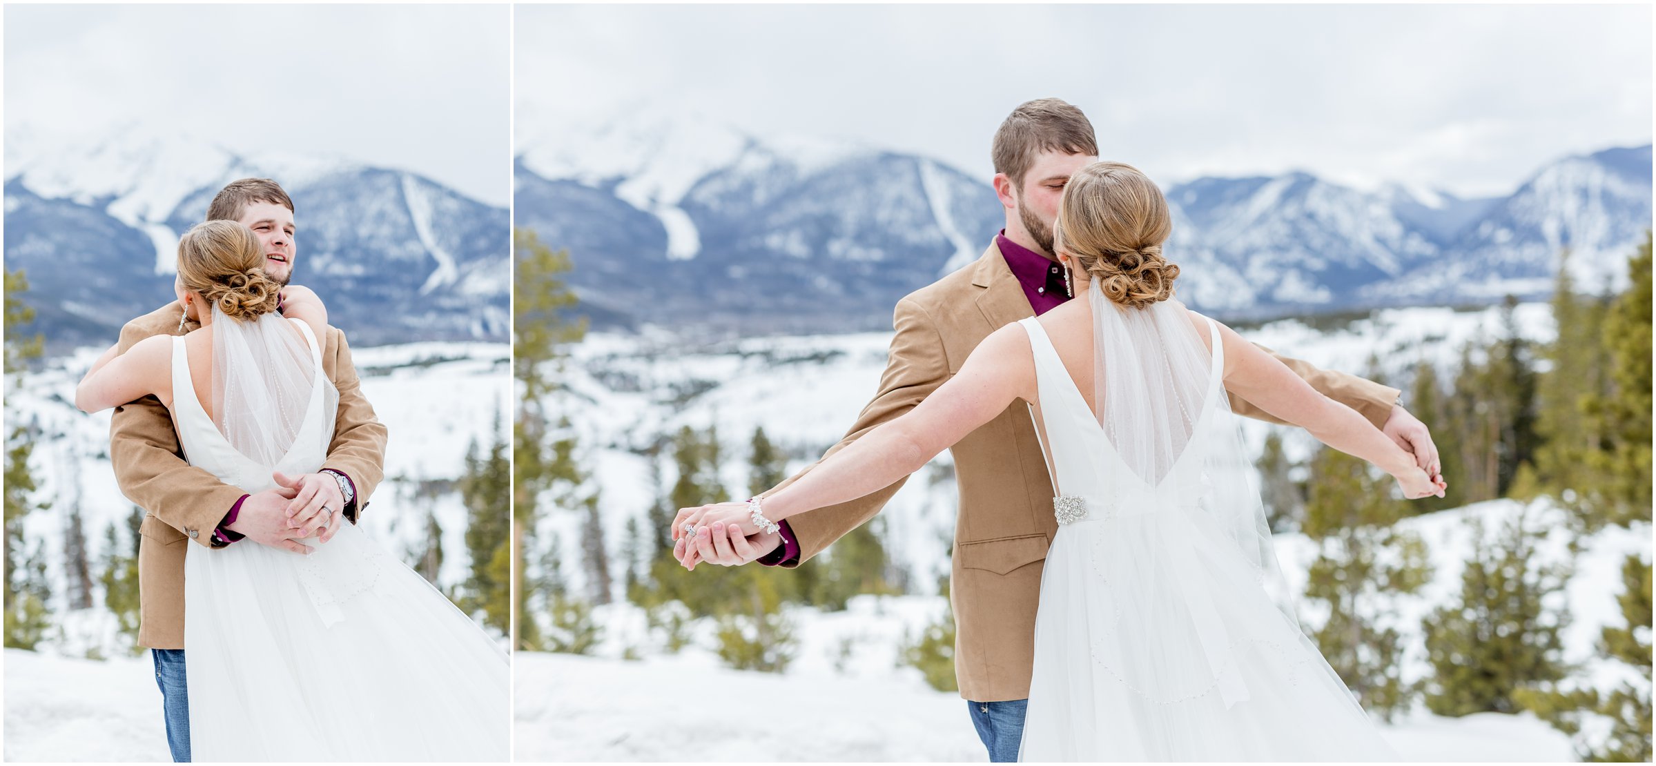
M 517 761 L 987 761 L 962 701 L 901 673 L 755 673 L 687 657 L 522 652 Z M 1533 716 L 1419 716 L 1384 728 L 1409 761 L 1573 761 Z

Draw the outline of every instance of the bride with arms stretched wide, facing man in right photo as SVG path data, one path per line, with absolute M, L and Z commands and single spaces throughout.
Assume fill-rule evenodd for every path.
M 1025 761 L 1378 761 L 1396 753 L 1305 637 L 1225 390 L 1391 473 L 1446 483 L 1350 407 L 1172 299 L 1161 190 L 1096 162 L 1070 179 L 1055 251 L 1086 301 L 990 334 L 903 417 L 672 534 L 740 534 L 889 486 L 1025 400 L 1053 478 Z M 1083 285 L 1076 285 L 1083 286 Z M 689 561 L 687 561 L 689 564 Z

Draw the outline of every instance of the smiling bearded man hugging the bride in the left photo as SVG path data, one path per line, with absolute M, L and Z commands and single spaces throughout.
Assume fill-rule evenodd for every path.
M 277 182 L 242 179 L 219 190 L 207 220 L 233 220 L 252 228 L 265 251 L 265 273 L 286 285 L 293 276 L 293 200 Z M 157 334 L 200 328 L 174 301 L 121 328 L 121 351 Z M 344 516 L 356 523 L 384 475 L 386 427 L 363 397 L 344 333 L 328 328 L 323 372 L 339 389 L 328 460 L 318 473 L 282 476 L 283 486 L 260 493 L 219 481 L 184 462 L 172 417 L 156 397 L 116 407 L 109 424 L 109 462 L 121 493 L 144 508 L 137 548 L 137 644 L 151 647 L 161 687 L 172 759 L 190 759 L 189 698 L 184 677 L 184 553 L 190 543 L 220 549 L 265 544 L 306 553 L 301 539 L 328 539 Z M 245 594 L 253 599 L 258 594 Z M 247 657 L 247 662 L 260 662 Z M 298 731 L 285 735 L 295 736 Z

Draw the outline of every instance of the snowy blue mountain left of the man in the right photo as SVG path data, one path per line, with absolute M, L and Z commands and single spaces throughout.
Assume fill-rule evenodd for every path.
M 994 190 L 941 162 L 692 124 L 661 137 L 599 129 L 591 154 L 563 136 L 518 156 L 517 225 L 570 248 L 601 324 L 889 326 L 903 294 L 975 258 L 999 228 L 985 215 Z

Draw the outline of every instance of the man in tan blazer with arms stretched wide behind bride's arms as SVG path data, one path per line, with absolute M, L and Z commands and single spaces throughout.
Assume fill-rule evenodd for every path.
M 1070 175 L 1098 160 L 1091 122 L 1060 99 L 1020 104 L 995 131 L 992 159 L 1005 228 L 975 263 L 898 303 L 896 336 L 879 392 L 828 455 L 937 390 L 995 329 L 1068 299 L 1052 248 L 1052 223 Z M 1437 450 L 1426 425 L 1398 404 L 1398 389 L 1273 356 L 1312 387 L 1384 430 L 1436 478 Z M 1282 424 L 1235 394 L 1230 394 L 1230 407 L 1239 415 Z M 956 680 L 990 759 L 1015 761 L 1035 658 L 1042 564 L 1058 531 L 1052 481 L 1023 405 L 1009 407 L 951 452 L 960 491 L 949 589 Z M 782 486 L 806 472 L 810 468 Z M 793 516 L 782 521 L 780 536 L 727 541 L 719 529 L 702 531 L 691 549 L 681 541 L 676 554 L 691 566 L 697 559 L 724 566 L 755 559 L 767 566 L 800 566 L 879 513 L 899 486 L 903 481 Z

